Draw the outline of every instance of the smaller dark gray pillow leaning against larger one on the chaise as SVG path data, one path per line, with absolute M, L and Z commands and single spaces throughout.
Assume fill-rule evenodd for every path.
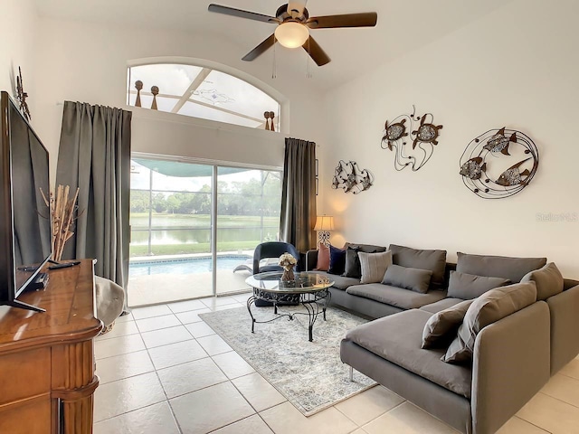
M 472 300 L 461 301 L 458 305 L 448 307 L 432 315 L 422 331 L 422 348 L 434 348 L 448 344 L 470 307 Z

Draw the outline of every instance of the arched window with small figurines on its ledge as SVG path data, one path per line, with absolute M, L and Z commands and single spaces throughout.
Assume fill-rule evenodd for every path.
M 204 66 L 128 67 L 128 105 L 280 131 L 280 102 L 233 75 Z

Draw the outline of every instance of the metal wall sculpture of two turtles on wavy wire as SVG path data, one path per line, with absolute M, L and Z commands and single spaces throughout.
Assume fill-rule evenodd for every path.
M 422 117 L 416 116 L 414 106 L 411 115 L 400 115 L 390 123 L 386 120 L 381 146 L 383 149 L 394 151 L 394 168 L 397 171 L 410 166 L 413 172 L 416 172 L 430 160 L 434 145 L 438 145 L 439 130 L 442 128 L 441 125 L 434 125 L 433 120 L 432 113 L 426 113 Z M 410 140 L 412 150 L 407 146 Z

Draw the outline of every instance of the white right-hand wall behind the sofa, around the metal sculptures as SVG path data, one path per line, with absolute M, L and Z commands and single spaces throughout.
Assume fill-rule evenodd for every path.
M 336 216 L 332 241 L 446 249 L 450 260 L 457 251 L 546 256 L 579 278 L 579 222 L 536 219 L 579 213 L 577 16 L 574 0 L 518 0 L 329 93 L 318 208 Z M 384 121 L 413 104 L 444 127 L 429 163 L 396 172 L 380 147 Z M 540 165 L 521 193 L 483 200 L 462 184 L 460 156 L 504 126 L 534 139 Z M 370 169 L 375 185 L 355 196 L 330 189 L 339 159 Z

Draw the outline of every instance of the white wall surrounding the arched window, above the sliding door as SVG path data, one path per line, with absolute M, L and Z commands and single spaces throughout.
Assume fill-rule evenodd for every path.
M 240 47 L 214 34 L 171 33 L 123 29 L 98 24 L 42 18 L 39 25 L 37 76 L 40 111 L 38 133 L 49 147 L 52 175 L 62 123 L 63 100 L 126 108 L 128 61 L 150 57 L 188 57 L 220 62 L 266 83 L 288 99 L 289 118 L 284 118 L 292 137 L 318 143 L 324 131 L 314 114 L 321 98 L 303 78 L 284 74 L 271 79 L 271 67 L 241 61 Z M 133 151 L 171 156 L 202 157 L 257 165 L 283 165 L 284 135 L 195 120 L 179 115 L 133 109 Z M 216 129 L 218 128 L 218 129 Z

